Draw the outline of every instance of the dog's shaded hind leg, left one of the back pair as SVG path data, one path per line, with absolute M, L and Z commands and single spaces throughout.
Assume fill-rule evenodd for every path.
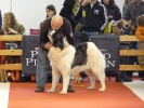
M 87 87 L 88 90 L 93 90 L 95 87 L 95 77 L 91 70 L 87 70 L 86 73 L 88 75 L 90 79 L 91 85 Z

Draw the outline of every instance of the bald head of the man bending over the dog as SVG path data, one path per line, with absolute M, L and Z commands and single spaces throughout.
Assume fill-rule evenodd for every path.
M 54 30 L 58 30 L 63 25 L 63 17 L 60 15 L 54 15 L 51 21 L 51 27 Z

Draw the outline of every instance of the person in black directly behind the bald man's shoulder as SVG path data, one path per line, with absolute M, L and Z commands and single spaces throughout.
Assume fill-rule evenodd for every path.
M 66 17 L 70 24 L 71 24 L 71 28 L 73 28 L 73 32 L 74 32 L 74 28 L 75 28 L 75 22 L 74 19 L 71 18 L 73 15 L 75 14 L 75 10 L 74 6 L 75 6 L 75 3 L 76 3 L 76 0 L 65 0 L 64 1 L 64 4 L 63 4 L 63 8 L 60 12 L 60 15 L 63 16 L 63 17 Z

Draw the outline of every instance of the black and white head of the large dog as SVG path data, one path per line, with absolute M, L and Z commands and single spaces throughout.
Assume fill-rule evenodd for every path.
M 62 32 L 50 30 L 48 37 L 52 46 L 64 49 L 64 35 Z

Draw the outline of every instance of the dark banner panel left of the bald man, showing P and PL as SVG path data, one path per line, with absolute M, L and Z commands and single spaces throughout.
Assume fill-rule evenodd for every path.
M 22 57 L 22 72 L 24 76 L 35 76 L 37 66 L 39 36 L 24 36 L 23 37 L 23 57 Z M 49 62 L 50 63 L 50 62 Z M 51 66 L 48 66 L 48 73 L 51 75 Z

